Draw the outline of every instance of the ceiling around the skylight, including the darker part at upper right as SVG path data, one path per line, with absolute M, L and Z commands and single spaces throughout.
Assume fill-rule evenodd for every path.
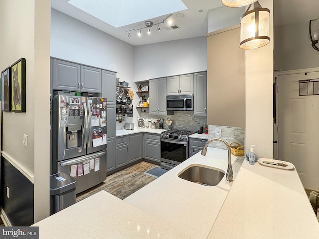
M 177 29 L 172 29 L 163 23 L 160 24 L 161 31 L 158 32 L 157 26 L 153 25 L 150 28 L 150 35 L 146 34 L 147 28 L 144 28 L 141 37 L 139 37 L 137 36 L 138 29 L 145 27 L 146 20 L 150 20 L 154 24 L 160 23 L 170 14 L 116 28 L 72 6 L 68 1 L 51 0 L 51 7 L 132 45 L 204 36 L 208 33 L 208 11 L 217 7 L 225 7 L 220 0 L 182 0 L 188 9 L 171 13 L 172 26 L 178 26 Z M 287 0 L 274 0 L 275 26 L 306 22 L 319 17 L 319 0 L 289 0 L 289 4 L 287 2 Z M 156 7 L 157 5 L 152 5 L 152 1 L 150 1 L 149 5 L 140 10 L 147 12 L 148 9 Z M 182 15 L 183 17 L 180 17 Z M 137 29 L 137 31 L 132 29 Z M 131 37 L 128 37 L 128 30 L 132 30 L 130 31 Z

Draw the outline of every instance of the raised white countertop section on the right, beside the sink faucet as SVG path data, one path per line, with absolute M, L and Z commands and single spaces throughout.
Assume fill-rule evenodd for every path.
M 208 239 L 318 239 L 297 171 L 244 161 Z

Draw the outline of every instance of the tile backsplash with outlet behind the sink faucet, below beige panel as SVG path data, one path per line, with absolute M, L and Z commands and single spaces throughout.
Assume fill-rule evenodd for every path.
M 236 142 L 242 146 L 245 146 L 245 128 L 209 125 L 208 139 L 216 138 L 216 128 L 221 129 L 221 139 L 225 140 L 228 144 Z M 226 149 L 226 146 L 221 142 L 212 142 L 209 144 L 209 147 Z

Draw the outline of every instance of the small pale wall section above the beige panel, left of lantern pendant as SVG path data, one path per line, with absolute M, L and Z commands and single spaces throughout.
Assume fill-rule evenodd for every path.
M 245 7 L 221 6 L 208 11 L 208 32 L 218 31 L 238 25 L 240 17 L 245 13 Z M 239 43 L 238 43 L 239 44 Z

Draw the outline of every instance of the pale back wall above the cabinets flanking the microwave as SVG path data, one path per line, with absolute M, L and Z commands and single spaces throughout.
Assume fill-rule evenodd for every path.
M 134 81 L 206 70 L 205 36 L 134 48 Z

